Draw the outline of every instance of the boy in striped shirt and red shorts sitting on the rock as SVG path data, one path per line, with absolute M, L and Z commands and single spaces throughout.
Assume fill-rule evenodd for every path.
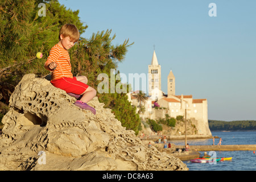
M 86 85 L 85 76 L 75 76 L 71 73 L 71 63 L 68 49 L 73 47 L 80 34 L 73 24 L 64 24 L 60 28 L 59 42 L 51 48 L 44 68 L 52 72 L 51 83 L 53 86 L 65 90 L 70 96 L 78 100 L 74 103 L 81 109 L 90 110 L 96 114 L 96 110 L 86 103 L 96 96 L 96 90 Z

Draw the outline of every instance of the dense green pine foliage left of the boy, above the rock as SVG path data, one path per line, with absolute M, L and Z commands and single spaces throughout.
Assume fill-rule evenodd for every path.
M 38 15 L 39 3 L 46 5 L 46 16 Z M 65 23 L 73 23 L 82 34 L 87 27 L 82 26 L 78 10 L 66 10 L 58 1 L 4 0 L 0 7 L 0 63 L 1 68 L 8 67 L 4 70 L 6 74 L 0 71 L 1 77 L 12 72 L 46 74 L 43 64 L 51 47 L 59 41 L 59 28 Z M 43 53 L 43 59 L 36 59 L 37 52 Z

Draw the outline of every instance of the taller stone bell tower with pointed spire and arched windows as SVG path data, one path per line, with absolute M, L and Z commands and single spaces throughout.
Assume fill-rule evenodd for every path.
M 152 56 L 151 65 L 148 65 L 149 78 L 149 90 L 159 89 L 161 90 L 161 65 L 158 64 L 158 59 L 155 54 L 155 50 Z M 148 92 L 151 96 L 151 92 Z

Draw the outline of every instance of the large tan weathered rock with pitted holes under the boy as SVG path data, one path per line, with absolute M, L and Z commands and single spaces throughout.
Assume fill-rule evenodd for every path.
M 148 148 L 95 97 L 93 115 L 44 78 L 25 75 L 10 97 L 0 137 L 1 170 L 187 170 Z

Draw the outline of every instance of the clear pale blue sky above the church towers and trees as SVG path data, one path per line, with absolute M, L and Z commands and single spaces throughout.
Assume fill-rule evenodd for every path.
M 176 95 L 206 98 L 208 119 L 256 120 L 255 0 L 59 2 L 79 10 L 82 37 L 112 30 L 114 45 L 134 42 L 118 64 L 127 77 L 148 73 L 155 49 L 164 93 L 172 70 Z

